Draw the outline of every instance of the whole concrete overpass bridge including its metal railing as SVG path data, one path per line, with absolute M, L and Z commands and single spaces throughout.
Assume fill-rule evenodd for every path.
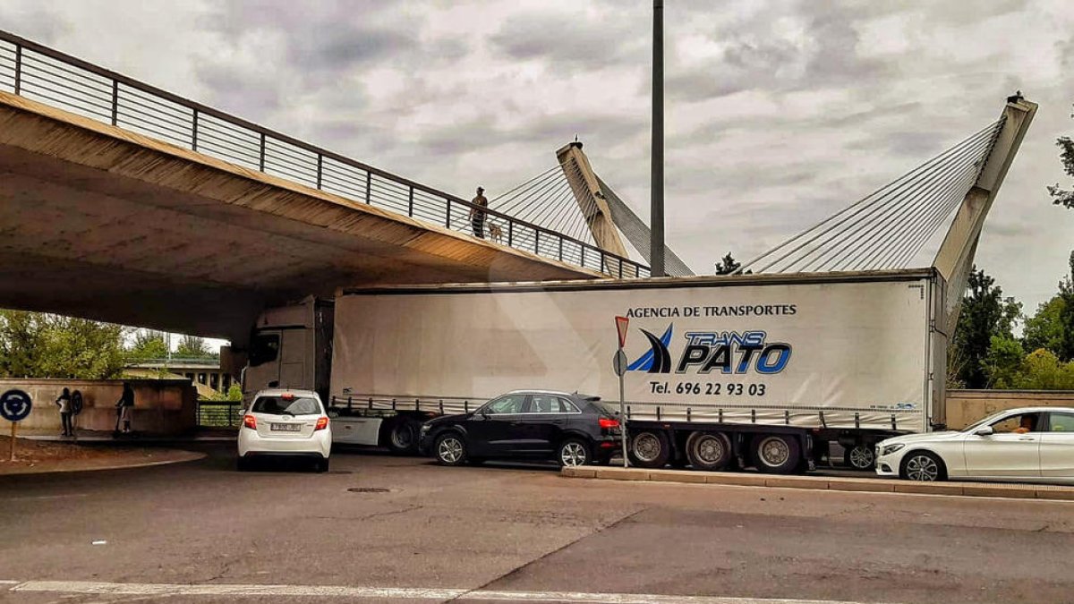
M 648 276 L 622 255 L 0 31 L 0 306 L 243 342 L 337 287 Z

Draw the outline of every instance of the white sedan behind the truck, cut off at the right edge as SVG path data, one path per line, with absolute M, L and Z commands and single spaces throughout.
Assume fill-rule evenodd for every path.
M 876 474 L 1074 483 L 1074 408 L 1007 409 L 961 431 L 888 438 L 876 445 Z

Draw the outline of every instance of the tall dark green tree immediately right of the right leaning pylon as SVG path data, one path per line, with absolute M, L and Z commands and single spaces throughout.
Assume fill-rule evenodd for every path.
M 958 349 L 948 356 L 948 359 L 957 358 L 962 361 L 960 366 L 948 366 L 949 372 L 957 371 L 957 382 L 964 384 L 967 388 L 987 386 L 985 360 L 992 345 L 992 336 L 1013 339 L 1014 326 L 1020 315 L 1021 303 L 1012 298 L 1003 298 L 1003 290 L 996 285 L 996 279 L 973 267 L 952 342 Z

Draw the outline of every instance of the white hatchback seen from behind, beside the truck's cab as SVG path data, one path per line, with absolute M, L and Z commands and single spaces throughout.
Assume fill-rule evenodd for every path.
M 306 457 L 318 472 L 329 469 L 332 428 L 317 392 L 261 390 L 238 429 L 238 470 L 253 458 Z

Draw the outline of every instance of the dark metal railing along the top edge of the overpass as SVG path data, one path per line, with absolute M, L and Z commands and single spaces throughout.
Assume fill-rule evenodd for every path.
M 0 31 L 0 90 L 146 134 L 235 166 L 471 233 L 473 203 Z M 482 208 L 500 244 L 618 277 L 649 268 L 571 236 Z

